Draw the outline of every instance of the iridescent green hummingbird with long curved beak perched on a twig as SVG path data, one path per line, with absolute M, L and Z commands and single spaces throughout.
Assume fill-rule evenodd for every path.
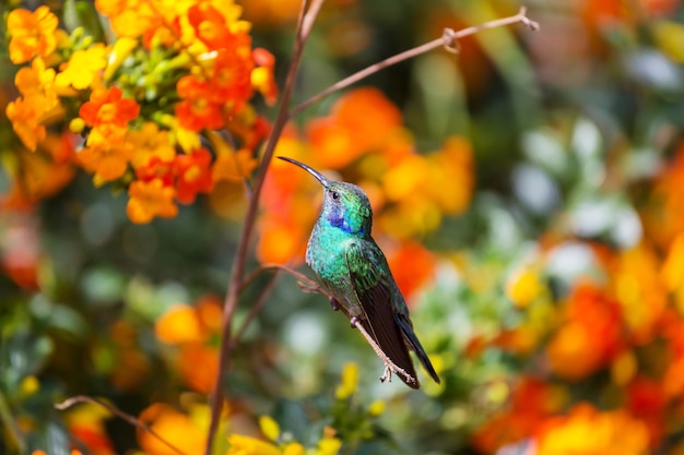
M 309 237 L 306 263 L 332 296 L 333 310 L 342 310 L 352 327 L 361 324 L 397 367 L 400 379 L 418 388 L 409 350 L 413 350 L 429 375 L 439 383 L 421 342 L 413 332 L 409 307 L 387 264 L 385 254 L 370 237 L 373 211 L 366 193 L 353 183 L 327 179 L 295 159 L 279 156 L 300 167 L 323 188 L 323 203 Z M 386 364 L 380 381 L 391 380 Z M 403 374 L 401 374 L 403 373 Z

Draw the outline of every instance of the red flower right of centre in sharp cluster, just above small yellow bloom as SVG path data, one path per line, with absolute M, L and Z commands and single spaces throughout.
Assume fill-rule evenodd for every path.
M 176 105 L 176 117 L 182 128 L 200 131 L 223 128 L 221 106 L 213 103 L 210 86 L 192 75 L 180 77 L 176 85 L 182 101 Z

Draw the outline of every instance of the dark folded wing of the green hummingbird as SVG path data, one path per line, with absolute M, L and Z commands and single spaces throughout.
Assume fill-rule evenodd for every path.
M 346 265 L 352 286 L 364 310 L 365 319 L 361 323 L 382 352 L 413 381 L 406 380 L 401 374 L 398 374 L 399 378 L 410 387 L 418 388 L 413 361 L 394 318 L 391 286 L 388 283 L 388 279 L 392 278 L 386 264 L 387 261 L 378 247 L 369 246 L 367 241 L 353 241 L 346 250 Z

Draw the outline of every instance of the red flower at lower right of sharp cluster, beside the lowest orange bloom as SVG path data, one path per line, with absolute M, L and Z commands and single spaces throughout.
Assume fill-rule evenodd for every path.
M 176 156 L 176 199 L 182 204 L 190 204 L 198 193 L 209 193 L 214 184 L 212 180 L 211 154 L 200 148 L 189 155 Z

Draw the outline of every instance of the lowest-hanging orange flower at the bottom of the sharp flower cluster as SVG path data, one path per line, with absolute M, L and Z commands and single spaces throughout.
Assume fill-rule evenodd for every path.
M 128 194 L 130 200 L 126 213 L 133 223 L 146 224 L 155 216 L 173 218 L 178 214 L 178 207 L 174 204 L 176 191 L 165 187 L 162 179 L 134 181 L 128 189 Z

